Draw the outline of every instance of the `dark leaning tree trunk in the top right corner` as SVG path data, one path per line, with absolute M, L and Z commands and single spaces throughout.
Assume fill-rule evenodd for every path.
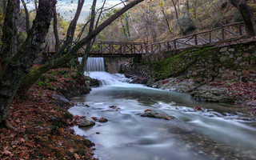
M 254 37 L 256 35 L 256 24 L 250 6 L 246 4 L 245 0 L 230 0 L 230 3 L 236 7 L 242 15 L 242 19 L 246 25 L 247 36 Z

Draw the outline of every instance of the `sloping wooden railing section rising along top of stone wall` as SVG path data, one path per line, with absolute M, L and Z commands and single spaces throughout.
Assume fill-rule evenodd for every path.
M 214 30 L 190 34 L 182 38 L 176 38 L 166 42 L 151 43 L 143 47 L 143 53 L 146 52 L 146 54 L 154 54 L 162 50 L 169 51 L 187 48 L 190 46 L 200 46 L 231 38 L 239 38 L 245 35 L 246 28 L 244 26 L 244 22 L 236 22 L 220 26 Z

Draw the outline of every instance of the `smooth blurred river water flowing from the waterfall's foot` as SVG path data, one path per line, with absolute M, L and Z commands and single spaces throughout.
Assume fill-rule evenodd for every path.
M 255 117 L 245 107 L 198 102 L 190 94 L 129 84 L 122 74 L 91 72 L 90 77 L 102 86 L 73 98 L 78 106 L 69 111 L 108 119 L 91 127 L 74 126 L 77 134 L 95 143 L 99 159 L 256 159 Z M 146 109 L 176 119 L 141 117 Z

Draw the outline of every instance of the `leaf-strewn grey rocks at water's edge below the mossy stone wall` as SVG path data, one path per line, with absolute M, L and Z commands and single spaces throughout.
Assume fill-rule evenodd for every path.
M 186 92 L 205 102 L 226 102 L 256 107 L 256 83 L 234 81 L 206 81 L 202 78 L 166 78 L 158 81 L 129 75 L 130 82 L 146 84 L 161 90 Z M 254 109 L 255 110 L 255 109 Z

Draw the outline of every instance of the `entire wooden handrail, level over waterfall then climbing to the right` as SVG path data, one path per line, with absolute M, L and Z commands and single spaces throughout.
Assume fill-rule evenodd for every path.
M 238 26 L 238 30 L 233 31 L 233 30 L 230 30 L 229 28 L 227 29 L 227 27 L 230 27 L 230 26 Z M 219 32 L 218 30 L 222 30 L 222 32 L 220 34 L 216 33 L 216 32 Z M 231 24 L 219 26 L 213 30 L 206 30 L 196 34 L 190 34 L 190 35 L 182 36 L 180 38 L 174 38 L 165 42 L 154 42 L 150 44 L 145 44 L 143 42 L 94 42 L 94 46 L 98 46 L 98 49 L 91 50 L 91 52 L 97 52 L 102 54 L 104 54 L 104 51 L 105 52 L 108 51 L 110 54 L 156 53 L 161 50 L 175 50 L 175 49 L 184 48 L 187 46 L 198 46 L 206 43 L 209 44 L 212 42 L 218 42 L 223 39 L 229 39 L 232 36 L 242 37 L 244 33 L 246 33 L 246 31 L 244 31 L 244 22 L 234 22 Z M 203 35 L 203 34 L 206 34 L 206 35 Z M 226 35 L 229 35 L 229 37 L 227 37 Z M 61 40 L 60 42 L 63 43 L 65 41 Z M 75 43 L 76 42 L 72 42 L 72 46 Z M 83 48 L 84 47 L 82 47 L 82 49 Z M 50 47 L 50 51 L 52 50 L 54 50 L 54 46 Z

